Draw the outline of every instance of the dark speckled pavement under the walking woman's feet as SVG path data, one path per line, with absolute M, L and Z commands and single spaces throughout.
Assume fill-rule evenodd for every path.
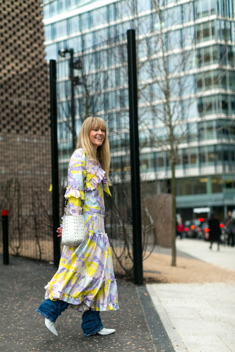
M 35 310 L 44 299 L 55 267 L 20 258 L 2 264 L 0 256 L 0 352 L 174 352 L 145 286 L 118 280 L 118 311 L 101 312 L 109 336 L 84 337 L 81 313 L 68 309 L 56 321 L 59 337 Z

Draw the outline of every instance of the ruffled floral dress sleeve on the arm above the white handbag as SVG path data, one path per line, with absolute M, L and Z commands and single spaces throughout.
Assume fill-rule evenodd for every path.
M 68 184 L 65 198 L 68 204 L 64 217 L 67 215 L 80 215 L 82 213 L 81 199 L 84 195 L 84 177 L 86 176 L 86 154 L 83 149 L 77 149 L 71 156 L 68 170 Z M 62 218 L 63 219 L 63 218 Z M 61 224 L 63 227 L 63 223 Z

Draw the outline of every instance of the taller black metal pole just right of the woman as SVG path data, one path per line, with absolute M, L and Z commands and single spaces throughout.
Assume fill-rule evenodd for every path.
M 130 150 L 131 150 L 131 194 L 133 221 L 133 257 L 135 284 L 143 284 L 142 236 L 141 236 L 141 183 L 138 132 L 136 34 L 134 29 L 127 31 Z

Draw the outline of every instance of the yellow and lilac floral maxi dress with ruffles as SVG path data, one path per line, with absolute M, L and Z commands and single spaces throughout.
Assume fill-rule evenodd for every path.
M 81 199 L 85 198 L 86 236 L 79 246 L 64 246 L 59 268 L 45 286 L 45 299 L 68 302 L 79 311 L 119 308 L 112 255 L 104 229 L 103 191 L 111 196 L 99 162 L 89 159 L 84 149 L 77 149 L 69 163 L 65 216 L 81 214 Z

